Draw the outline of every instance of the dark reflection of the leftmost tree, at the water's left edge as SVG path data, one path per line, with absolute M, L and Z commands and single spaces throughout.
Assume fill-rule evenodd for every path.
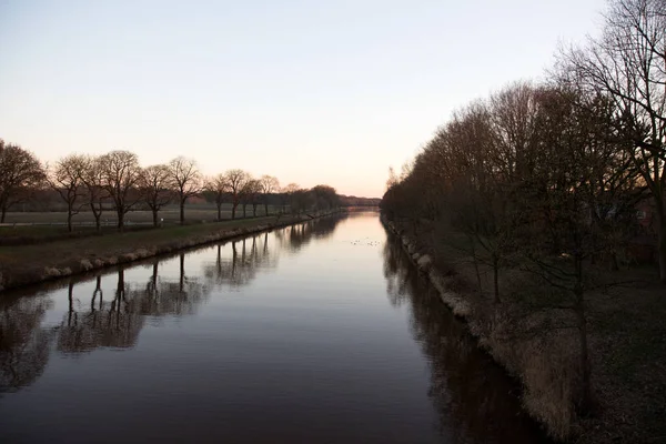
M 51 332 L 41 322 L 49 307 L 42 296 L 0 303 L 0 393 L 30 385 L 44 371 Z

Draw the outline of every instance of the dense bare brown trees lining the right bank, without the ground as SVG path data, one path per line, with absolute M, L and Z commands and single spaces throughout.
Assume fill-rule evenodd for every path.
M 454 112 L 390 172 L 382 208 L 414 231 L 464 233 L 475 263 L 492 269 L 497 306 L 509 266 L 564 295 L 558 307 L 573 310 L 579 332 L 578 402 L 588 405 L 585 295 L 608 284 L 594 270 L 627 255 L 639 203 L 654 213 L 666 283 L 666 1 L 609 1 L 601 37 L 556 60 L 545 81 Z

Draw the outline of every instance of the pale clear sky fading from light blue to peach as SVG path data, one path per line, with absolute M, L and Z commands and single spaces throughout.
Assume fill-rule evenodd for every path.
M 604 0 L 0 0 L 0 138 L 380 198 L 451 113 L 538 80 Z

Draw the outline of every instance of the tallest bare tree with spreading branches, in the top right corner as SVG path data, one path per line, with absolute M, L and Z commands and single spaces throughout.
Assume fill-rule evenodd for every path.
M 655 203 L 659 275 L 666 283 L 666 2 L 612 0 L 602 37 L 561 54 L 566 80 L 608 98 L 634 167 Z

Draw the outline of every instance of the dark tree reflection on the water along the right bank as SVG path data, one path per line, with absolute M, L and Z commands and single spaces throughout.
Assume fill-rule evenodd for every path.
M 410 325 L 430 364 L 428 397 L 454 443 L 548 443 L 521 411 L 518 387 L 478 350 L 464 324 L 389 234 L 384 276 L 392 305 L 406 305 Z

